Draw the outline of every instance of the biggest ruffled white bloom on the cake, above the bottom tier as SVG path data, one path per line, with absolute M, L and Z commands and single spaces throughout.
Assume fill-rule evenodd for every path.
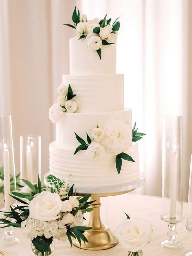
M 124 121 L 110 119 L 104 126 L 102 144 L 115 154 L 128 150 L 132 143 L 132 129 Z

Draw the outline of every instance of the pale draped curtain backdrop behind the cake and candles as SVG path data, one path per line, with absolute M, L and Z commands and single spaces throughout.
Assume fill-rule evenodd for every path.
M 19 137 L 42 136 L 42 173 L 49 170 L 54 125 L 48 110 L 62 74 L 69 73 L 68 39 L 74 6 L 94 17 L 120 17 L 117 73 L 124 74 L 124 106 L 147 136 L 139 142 L 145 185 L 161 196 L 161 117 L 183 116 L 184 199 L 192 153 L 192 2 L 190 0 L 1 0 L 0 115 L 12 115 L 15 162 Z M 43 176 L 42 175 L 42 176 Z

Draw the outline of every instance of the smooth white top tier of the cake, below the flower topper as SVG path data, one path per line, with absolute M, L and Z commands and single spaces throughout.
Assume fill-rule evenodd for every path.
M 116 44 L 101 47 L 101 60 L 87 47 L 87 40 L 69 39 L 70 74 L 116 74 Z

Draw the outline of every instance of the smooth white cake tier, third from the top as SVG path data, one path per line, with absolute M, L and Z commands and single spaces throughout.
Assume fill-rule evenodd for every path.
M 75 133 L 86 140 L 86 132 L 90 135 L 97 125 L 104 128 L 105 122 L 111 118 L 124 121 L 132 130 L 131 109 L 105 113 L 65 113 L 64 121 L 56 124 L 57 145 L 75 151 L 79 146 Z

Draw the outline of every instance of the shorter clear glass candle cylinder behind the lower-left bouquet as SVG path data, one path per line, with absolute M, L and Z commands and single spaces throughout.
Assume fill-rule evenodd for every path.
M 20 173 L 21 179 L 37 183 L 37 173 L 41 178 L 41 136 L 20 136 Z M 25 185 L 21 181 L 22 185 Z

